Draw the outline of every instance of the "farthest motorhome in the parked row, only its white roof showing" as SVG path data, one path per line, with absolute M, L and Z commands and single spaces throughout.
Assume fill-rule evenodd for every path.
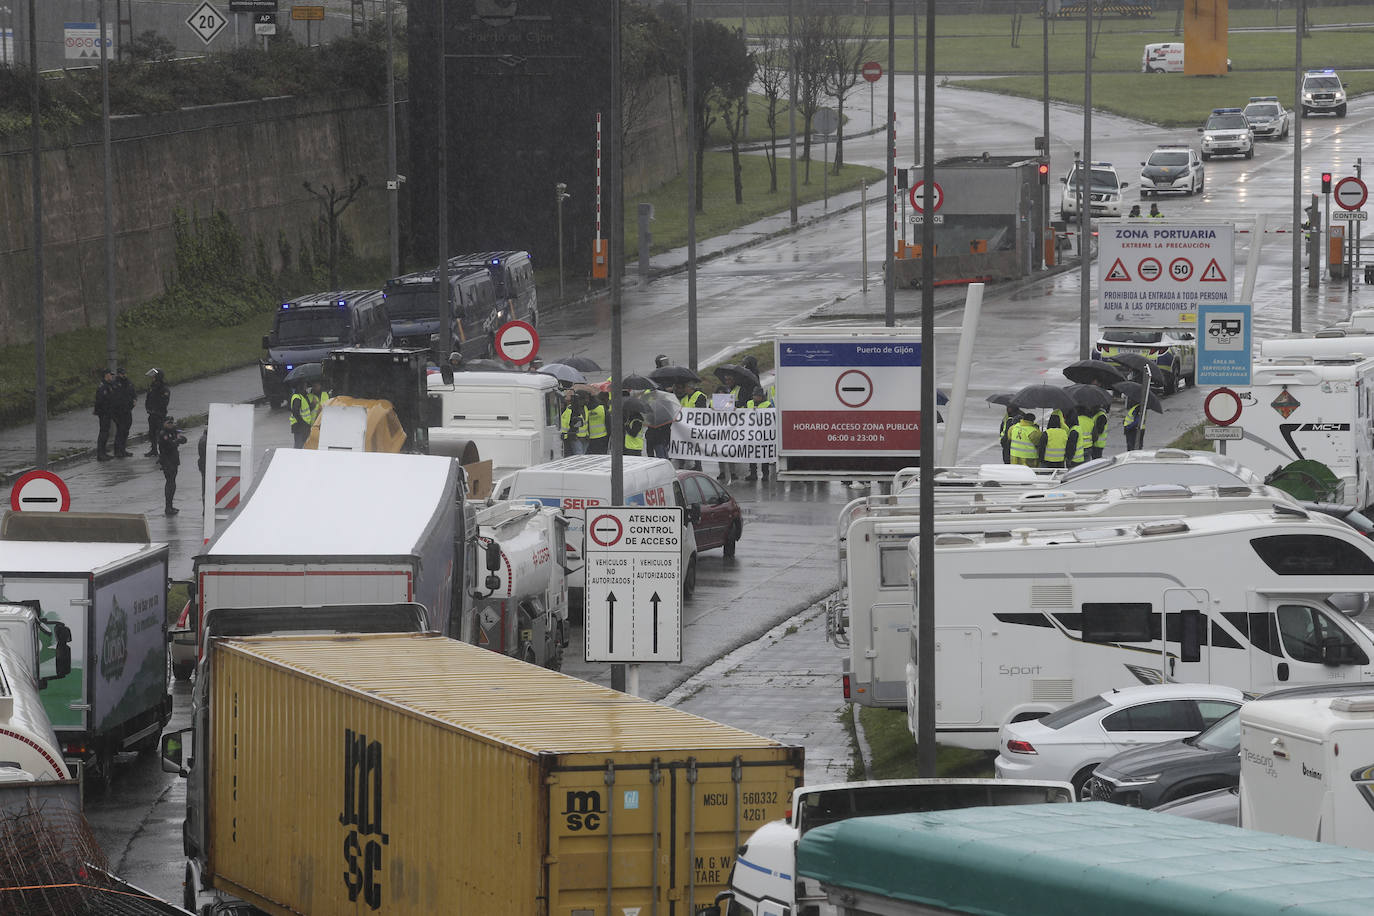
M 966 489 L 1054 488 L 1061 490 L 1105 490 L 1147 483 L 1183 486 L 1260 486 L 1264 478 L 1232 457 L 1184 449 L 1136 449 L 1094 459 L 1074 468 L 1035 468 L 1021 464 L 981 464 L 940 468 L 936 485 Z M 921 468 L 901 468 L 892 479 L 893 493 L 916 500 Z

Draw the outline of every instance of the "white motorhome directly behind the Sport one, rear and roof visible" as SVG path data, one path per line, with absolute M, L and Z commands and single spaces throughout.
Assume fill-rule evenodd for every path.
M 1176 483 L 1083 493 L 954 490 L 940 497 L 937 534 L 1003 537 L 1025 527 L 1072 530 L 1098 523 L 1267 512 L 1276 505 L 1296 505 L 1286 493 L 1268 486 L 1187 488 Z M 826 610 L 831 641 L 849 648 L 841 662 L 841 684 L 851 703 L 907 706 L 907 644 L 912 619 L 907 549 L 919 536 L 916 507 L 901 497 L 855 500 L 841 514 L 841 591 Z

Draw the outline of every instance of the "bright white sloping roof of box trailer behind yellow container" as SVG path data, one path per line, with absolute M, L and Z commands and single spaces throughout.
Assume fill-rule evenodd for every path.
M 205 555 L 405 556 L 456 472 L 430 455 L 275 449 Z

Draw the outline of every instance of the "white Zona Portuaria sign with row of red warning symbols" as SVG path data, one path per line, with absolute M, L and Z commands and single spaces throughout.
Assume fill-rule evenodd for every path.
M 1197 327 L 1198 308 L 1235 297 L 1230 222 L 1098 227 L 1098 324 Z

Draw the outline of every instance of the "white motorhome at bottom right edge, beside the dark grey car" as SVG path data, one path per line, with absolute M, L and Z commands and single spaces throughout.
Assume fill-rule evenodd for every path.
M 1241 707 L 1241 827 L 1374 850 L 1374 684 Z

